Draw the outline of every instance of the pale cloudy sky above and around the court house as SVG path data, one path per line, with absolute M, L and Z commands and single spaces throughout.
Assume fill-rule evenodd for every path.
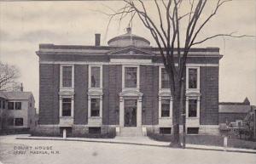
M 210 0 L 206 15 L 216 0 Z M 0 2 L 0 60 L 20 69 L 24 90 L 31 91 L 38 107 L 39 43 L 93 45 L 95 33 L 102 34 L 102 45 L 110 38 L 125 33 L 127 21 L 121 25 L 114 19 L 108 27 L 110 8 L 120 8 L 120 1 L 75 2 Z M 154 17 L 153 3 L 148 3 Z M 203 15 L 203 16 L 206 16 Z M 203 17 L 205 18 L 205 17 Z M 256 36 L 256 1 L 233 0 L 219 9 L 199 38 L 237 31 L 237 35 Z M 132 21 L 132 33 L 153 37 L 137 18 Z M 219 64 L 219 101 L 241 102 L 248 97 L 256 105 L 256 39 L 255 37 L 219 37 L 197 47 L 218 47 L 224 57 Z

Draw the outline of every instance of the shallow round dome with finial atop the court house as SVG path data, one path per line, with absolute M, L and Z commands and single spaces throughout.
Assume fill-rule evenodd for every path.
M 120 35 L 118 37 L 113 37 L 108 41 L 108 46 L 112 47 L 149 47 L 150 42 L 144 37 L 139 37 L 137 35 L 131 34 L 131 27 L 126 29 L 127 33 Z

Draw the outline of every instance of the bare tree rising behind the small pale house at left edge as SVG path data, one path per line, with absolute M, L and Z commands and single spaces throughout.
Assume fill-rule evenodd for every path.
M 19 77 L 20 71 L 15 65 L 3 64 L 0 61 L 0 91 L 17 88 L 16 81 Z

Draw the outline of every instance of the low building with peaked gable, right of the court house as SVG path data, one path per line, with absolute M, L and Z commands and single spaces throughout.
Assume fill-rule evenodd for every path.
M 243 102 L 221 102 L 218 105 L 218 122 L 231 127 L 241 127 L 242 121 L 252 109 L 250 101 L 246 98 Z

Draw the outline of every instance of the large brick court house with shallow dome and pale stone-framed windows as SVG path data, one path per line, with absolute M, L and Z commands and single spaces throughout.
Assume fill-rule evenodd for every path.
M 37 54 L 37 133 L 172 133 L 172 96 L 160 50 L 131 34 L 131 28 L 110 39 L 108 46 L 101 46 L 96 34 L 95 46 L 40 44 Z M 190 49 L 188 133 L 218 133 L 221 58 L 219 48 Z

